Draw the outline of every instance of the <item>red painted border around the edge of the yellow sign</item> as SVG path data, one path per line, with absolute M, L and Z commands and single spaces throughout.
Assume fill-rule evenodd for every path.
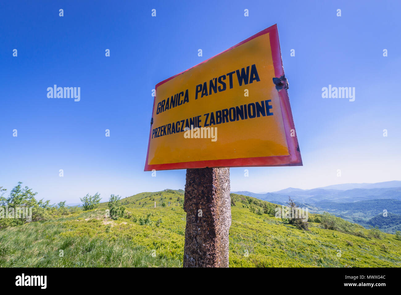
M 258 36 L 261 36 L 261 35 L 267 34 L 267 33 L 270 33 L 269 38 L 270 38 L 270 46 L 271 46 L 271 55 L 273 57 L 273 66 L 274 66 L 275 77 L 279 78 L 284 75 L 284 68 L 283 68 L 283 61 L 281 59 L 281 50 L 280 50 L 280 42 L 279 42 L 279 38 L 278 38 L 277 24 L 274 24 L 273 26 L 270 26 L 269 28 L 266 28 L 266 29 L 260 31 L 259 33 L 228 48 L 227 50 L 219 53 L 218 55 L 215 55 L 214 57 L 217 57 L 227 51 L 230 51 L 231 49 L 233 49 L 241 44 L 244 44 L 245 42 L 252 40 L 253 38 L 256 38 Z M 210 59 L 213 59 L 214 57 L 211 57 Z M 203 61 L 202 63 L 199 63 L 198 65 L 206 63 L 210 59 L 207 59 L 206 61 Z M 195 65 L 194 67 L 197 67 L 198 65 Z M 194 67 L 192 67 L 190 69 L 193 69 Z M 186 71 L 189 71 L 190 69 L 187 69 Z M 174 75 L 174 76 L 158 83 L 156 85 L 156 93 L 157 93 L 157 87 L 159 87 L 163 83 L 166 83 L 167 81 L 173 79 L 174 77 L 177 77 L 178 75 L 181 75 L 182 73 L 185 73 L 186 71 L 183 71 L 177 75 Z M 271 83 L 273 83 L 273 81 L 271 81 Z M 174 169 L 207 168 L 207 167 L 221 168 L 221 167 L 302 166 L 302 159 L 301 159 L 301 153 L 299 150 L 298 139 L 297 139 L 296 135 L 294 137 L 290 136 L 290 131 L 291 131 L 291 129 L 295 130 L 295 126 L 294 126 L 294 119 L 292 117 L 292 112 L 291 112 L 291 107 L 290 107 L 290 98 L 288 97 L 287 89 L 282 89 L 281 91 L 278 92 L 278 94 L 279 94 L 280 108 L 281 108 L 283 122 L 284 122 L 284 131 L 286 133 L 288 150 L 290 153 L 289 156 L 237 158 L 237 159 L 206 160 L 206 161 L 149 165 L 148 157 L 149 157 L 150 138 L 152 135 L 152 126 L 151 126 L 150 131 L 149 131 L 148 152 L 146 153 L 146 162 L 145 162 L 144 171 L 151 171 L 153 169 L 154 170 L 174 170 Z M 155 103 L 156 103 L 156 96 L 154 97 L 154 101 L 153 101 L 152 116 L 154 113 Z

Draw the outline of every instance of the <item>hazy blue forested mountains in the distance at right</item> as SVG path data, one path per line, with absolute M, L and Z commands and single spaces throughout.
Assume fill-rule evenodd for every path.
M 398 180 L 334 184 L 310 190 L 286 188 L 259 194 L 249 191 L 233 193 L 281 205 L 287 204 L 288 197 L 291 197 L 298 206 L 308 207 L 310 212 L 330 212 L 363 226 L 374 225 L 376 222 L 381 230 L 387 232 L 401 229 L 401 181 Z M 386 223 L 377 217 L 383 215 L 383 210 L 392 216 L 385 219 Z

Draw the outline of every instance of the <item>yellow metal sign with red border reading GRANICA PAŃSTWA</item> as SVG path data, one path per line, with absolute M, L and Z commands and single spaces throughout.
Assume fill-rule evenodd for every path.
M 156 85 L 145 170 L 300 164 L 276 35 L 270 27 Z

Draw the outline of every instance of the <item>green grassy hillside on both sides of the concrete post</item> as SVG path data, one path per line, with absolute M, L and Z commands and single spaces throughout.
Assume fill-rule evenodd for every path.
M 138 219 L 152 212 L 152 225 L 105 218 L 107 203 L 102 203 L 95 210 L 6 228 L 0 231 L 0 266 L 180 267 L 186 214 L 178 197 L 183 199 L 182 190 L 145 192 L 122 199 L 126 211 Z M 161 207 L 168 201 L 172 206 Z M 321 229 L 315 223 L 304 232 L 267 214 L 251 213 L 241 202 L 236 205 L 231 207 L 230 267 L 401 266 L 401 241 L 395 235 L 366 240 Z M 156 227 L 159 218 L 162 223 Z

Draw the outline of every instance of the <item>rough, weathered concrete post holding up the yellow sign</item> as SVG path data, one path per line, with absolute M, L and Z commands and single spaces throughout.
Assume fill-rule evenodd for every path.
M 184 267 L 228 267 L 230 168 L 186 170 Z

